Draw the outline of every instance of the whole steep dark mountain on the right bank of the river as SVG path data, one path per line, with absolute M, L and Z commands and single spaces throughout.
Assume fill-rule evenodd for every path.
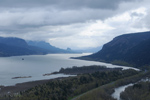
M 125 34 L 106 43 L 99 52 L 80 57 L 114 64 L 150 65 L 150 32 Z

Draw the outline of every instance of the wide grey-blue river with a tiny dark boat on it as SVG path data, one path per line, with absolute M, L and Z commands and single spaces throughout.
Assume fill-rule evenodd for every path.
M 67 77 L 67 75 L 50 75 L 43 76 L 43 74 L 59 71 L 60 68 L 67 68 L 72 66 L 83 65 L 105 65 L 107 67 L 123 67 L 111 65 L 95 61 L 84 61 L 77 59 L 70 59 L 70 57 L 79 57 L 87 54 L 48 54 L 48 55 L 30 55 L 30 56 L 13 56 L 0 57 L 0 85 L 8 86 L 16 83 L 52 79 L 57 77 Z M 22 60 L 24 59 L 24 60 Z M 130 67 L 123 67 L 124 69 Z M 31 78 L 12 77 L 32 76 Z

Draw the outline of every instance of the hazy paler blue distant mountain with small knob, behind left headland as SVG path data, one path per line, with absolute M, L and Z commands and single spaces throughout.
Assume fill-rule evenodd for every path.
M 67 48 L 66 50 L 57 48 L 45 41 L 27 41 L 27 43 L 30 46 L 43 48 L 43 49 L 47 50 L 48 53 L 77 53 L 75 51 L 72 51 L 70 48 Z

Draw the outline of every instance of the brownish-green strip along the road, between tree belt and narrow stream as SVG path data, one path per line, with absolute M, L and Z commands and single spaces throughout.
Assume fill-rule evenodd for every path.
M 111 94 L 114 92 L 115 88 L 119 86 L 127 85 L 129 83 L 135 83 L 141 80 L 143 77 L 147 77 L 149 75 L 150 72 L 140 72 L 139 74 L 130 77 L 125 77 L 117 81 L 111 82 L 109 84 L 100 86 L 91 91 L 88 91 L 87 93 L 84 93 L 73 100 L 115 100 L 114 98 L 111 97 Z M 128 100 L 128 99 L 124 99 L 124 100 Z M 130 100 L 134 100 L 134 99 L 130 99 Z M 139 99 L 139 100 L 143 100 L 143 99 Z

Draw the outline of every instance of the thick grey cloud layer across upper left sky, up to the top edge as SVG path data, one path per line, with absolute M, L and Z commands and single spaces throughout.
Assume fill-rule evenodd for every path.
M 0 26 L 64 25 L 104 20 L 121 2 L 136 0 L 0 0 Z M 5 22 L 5 23 L 4 23 Z

